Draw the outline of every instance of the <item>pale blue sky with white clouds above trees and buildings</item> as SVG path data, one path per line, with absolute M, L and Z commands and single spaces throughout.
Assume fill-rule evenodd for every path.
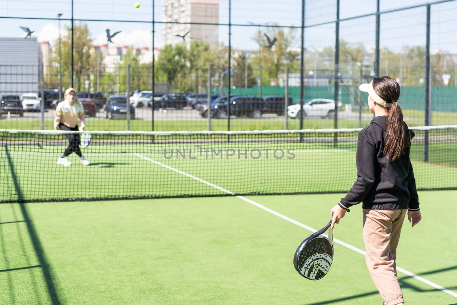
M 139 1 L 140 8 L 135 8 Z M 155 20 L 162 20 L 163 0 L 155 1 Z M 62 18 L 71 16 L 69 0 L 1 0 L 0 16 L 53 18 L 63 13 Z M 381 0 L 381 11 L 398 7 L 425 3 L 423 0 Z M 307 0 L 306 24 L 331 21 L 335 18 L 335 0 Z M 375 0 L 340 0 L 340 18 L 347 18 L 376 11 Z M 457 1 L 433 5 L 431 14 L 431 50 L 444 49 L 457 53 Z M 151 21 L 152 1 L 141 0 L 74 0 L 74 18 L 115 19 L 131 21 Z M 301 3 L 298 0 L 233 0 L 232 23 L 247 24 L 277 23 L 283 26 L 300 26 Z M 219 3 L 219 22 L 228 23 L 228 1 Z M 105 43 L 105 29 L 121 30 L 113 38 L 114 45 L 134 45 L 150 47 L 152 45 L 151 23 L 85 21 L 96 43 Z M 62 21 L 62 28 L 69 21 Z M 25 20 L 0 18 L 0 37 L 24 37 L 19 26 L 30 27 L 36 32 L 38 40 L 51 41 L 58 37 L 57 20 Z M 161 24 L 156 24 L 155 44 L 162 44 Z M 252 40 L 257 27 L 232 27 L 232 46 L 244 50 L 256 50 L 257 43 Z M 263 32 L 263 30 L 262 30 Z M 375 17 L 342 21 L 340 38 L 350 43 L 362 43 L 373 46 L 375 35 Z M 228 27 L 219 27 L 219 41 L 228 44 Z M 300 29 L 296 30 L 295 46 L 300 46 Z M 335 25 L 307 28 L 305 46 L 309 49 L 324 48 L 335 44 Z M 398 52 L 404 47 L 425 46 L 425 6 L 407 11 L 382 15 L 381 45 Z

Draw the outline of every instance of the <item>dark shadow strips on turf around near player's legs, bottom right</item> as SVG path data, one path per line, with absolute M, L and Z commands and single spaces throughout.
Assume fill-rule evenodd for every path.
M 445 271 L 455 270 L 455 269 L 457 269 L 457 266 L 441 268 L 441 269 L 426 271 L 426 272 L 422 272 L 422 273 L 416 273 L 416 275 L 423 276 L 423 275 L 427 275 L 427 274 L 440 273 L 440 272 L 445 272 Z M 412 278 L 412 277 L 410 277 L 408 275 L 399 277 L 399 284 L 400 284 L 401 289 L 411 289 L 411 290 L 414 290 L 415 292 L 438 291 L 438 289 L 433 288 L 433 287 L 430 287 L 430 289 L 419 288 L 414 284 L 406 282 L 406 280 L 414 280 L 414 278 Z M 454 289 L 457 289 L 457 286 L 445 287 L 445 288 L 449 289 L 449 290 L 454 290 Z M 333 300 L 325 300 L 325 301 L 314 302 L 314 303 L 303 303 L 303 305 L 338 304 L 339 302 L 342 302 L 342 301 L 354 300 L 354 299 L 363 298 L 363 297 L 367 297 L 367 296 L 374 295 L 374 294 L 379 294 L 379 292 L 377 290 L 376 291 L 370 291 L 370 292 L 366 292 L 366 293 L 363 293 L 363 294 L 355 294 L 355 295 L 351 295 L 351 296 L 348 295 L 348 296 L 345 296 L 345 297 L 342 297 L 342 298 L 338 298 L 338 299 L 333 299 Z M 379 299 L 382 300 L 380 295 L 379 295 Z M 457 305 L 457 303 L 449 304 L 449 305 Z

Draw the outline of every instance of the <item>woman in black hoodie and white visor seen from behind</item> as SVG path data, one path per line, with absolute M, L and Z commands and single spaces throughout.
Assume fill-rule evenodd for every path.
M 363 240 L 368 270 L 385 305 L 404 304 L 395 258 L 404 216 L 412 226 L 421 220 L 409 149 L 413 131 L 403 122 L 397 102 L 399 84 L 388 76 L 359 89 L 368 92 L 375 114 L 357 140 L 357 180 L 331 210 L 332 228 L 349 208 L 362 202 Z

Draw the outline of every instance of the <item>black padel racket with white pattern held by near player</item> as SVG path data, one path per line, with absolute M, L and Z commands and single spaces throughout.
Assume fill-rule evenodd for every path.
M 311 234 L 302 241 L 293 256 L 293 266 L 304 278 L 318 280 L 329 272 L 333 261 L 333 230 L 329 230 L 329 237 L 321 236 L 330 228 L 332 221 L 321 230 Z

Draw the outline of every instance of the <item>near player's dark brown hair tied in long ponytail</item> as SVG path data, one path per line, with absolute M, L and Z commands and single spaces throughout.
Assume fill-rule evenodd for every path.
M 411 134 L 405 127 L 403 112 L 397 102 L 400 96 L 400 86 L 394 79 L 383 76 L 373 80 L 373 89 L 384 101 L 392 103 L 391 107 L 386 107 L 389 117 L 383 153 L 387 155 L 389 161 L 395 161 L 411 144 Z

